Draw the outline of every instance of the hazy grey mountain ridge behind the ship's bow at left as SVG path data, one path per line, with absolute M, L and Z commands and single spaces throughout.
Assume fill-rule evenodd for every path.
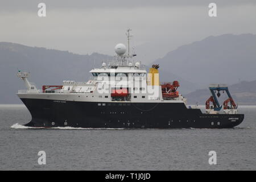
M 15 93 L 25 87 L 16 76 L 18 69 L 30 72 L 28 80 L 35 82 L 40 89 L 42 85 L 62 84 L 63 80 L 87 81 L 90 69 L 112 58 L 100 53 L 77 55 L 68 51 L 0 42 L 0 104 L 21 103 Z

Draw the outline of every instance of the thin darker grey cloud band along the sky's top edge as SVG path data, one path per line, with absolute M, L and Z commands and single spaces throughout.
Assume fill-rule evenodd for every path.
M 210 2 L 217 3 L 218 6 L 234 6 L 256 4 L 255 0 L 1 0 L 0 12 L 13 11 L 35 11 L 37 5 L 44 2 L 49 10 L 55 9 L 112 9 L 112 8 L 133 8 L 133 7 L 166 7 L 166 6 L 205 6 Z

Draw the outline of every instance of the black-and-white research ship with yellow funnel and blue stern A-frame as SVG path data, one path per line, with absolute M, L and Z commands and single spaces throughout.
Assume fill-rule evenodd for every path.
M 18 71 L 27 88 L 19 90 L 18 96 L 32 116 L 26 126 L 214 129 L 243 121 L 226 85 L 210 85 L 212 96 L 205 103 L 205 113 L 187 106 L 177 90 L 178 81 L 160 82 L 159 65 L 152 65 L 147 73 L 135 61 L 136 55 L 130 53 L 130 31 L 126 34 L 128 51 L 124 44 L 117 44 L 114 60 L 92 69 L 86 82 L 63 81 L 62 85 L 43 85 L 41 90 L 28 81 L 29 73 Z M 228 94 L 223 108 L 216 92 L 217 96 Z

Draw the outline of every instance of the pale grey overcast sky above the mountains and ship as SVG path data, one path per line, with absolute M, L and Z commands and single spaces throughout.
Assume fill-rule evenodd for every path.
M 40 2 L 46 3 L 43 18 Z M 217 17 L 208 16 L 210 2 Z M 0 42 L 108 55 L 115 44 L 126 44 L 130 27 L 136 53 L 153 60 L 210 35 L 256 34 L 256 1 L 0 0 L 0 24 Z

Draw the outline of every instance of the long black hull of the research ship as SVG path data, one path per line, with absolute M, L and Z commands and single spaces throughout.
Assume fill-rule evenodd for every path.
M 221 129 L 239 125 L 243 114 L 203 114 L 183 103 L 54 101 L 21 98 L 31 113 L 31 127 L 83 128 L 197 128 Z

